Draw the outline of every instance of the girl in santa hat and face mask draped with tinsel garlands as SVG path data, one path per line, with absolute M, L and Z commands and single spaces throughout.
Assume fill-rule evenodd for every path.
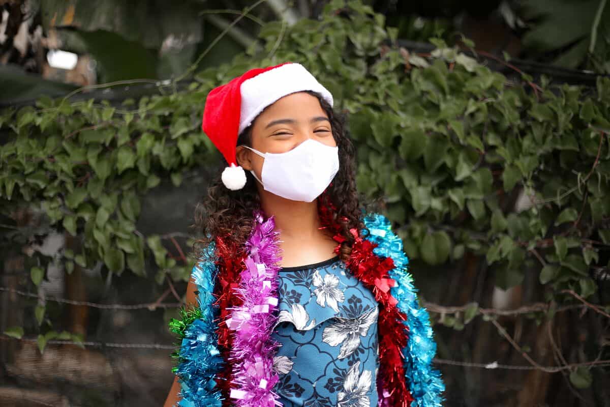
M 361 208 L 332 106 L 292 62 L 207 96 L 202 128 L 228 167 L 196 217 L 165 406 L 441 405 L 408 259 L 387 219 Z

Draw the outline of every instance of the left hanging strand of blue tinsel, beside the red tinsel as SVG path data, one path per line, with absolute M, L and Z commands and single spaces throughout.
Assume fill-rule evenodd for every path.
M 197 301 L 201 318 L 195 319 L 185 330 L 182 339 L 176 375 L 181 383 L 179 407 L 221 407 L 222 396 L 216 387 L 215 376 L 224 361 L 218 351 L 215 333 L 218 307 L 212 306 L 217 267 L 213 261 L 215 246 L 212 244 L 201 253 L 193 267 L 191 278 L 197 286 Z

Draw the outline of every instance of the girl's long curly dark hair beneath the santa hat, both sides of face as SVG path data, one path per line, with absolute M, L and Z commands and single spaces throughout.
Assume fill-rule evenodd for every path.
M 339 147 L 339 171 L 322 195 L 331 203 L 328 205 L 332 208 L 331 222 L 335 223 L 336 228 L 345 238 L 345 241 L 341 243 L 340 258 L 346 261 L 350 257 L 351 246 L 355 239 L 350 229 L 356 228 L 360 231 L 364 228 L 360 199 L 356 189 L 356 151 L 349 132 L 345 129 L 345 114 L 333 110 L 320 93 L 310 90 L 304 92 L 315 96 L 320 101 L 320 106 L 331 122 L 332 135 Z M 254 120 L 239 135 L 237 145 L 251 146 Z M 207 196 L 195 208 L 195 225 L 193 226 L 203 236 L 195 241 L 195 250 L 199 247 L 206 247 L 218 236 L 223 237 L 224 242 L 230 247 L 243 248 L 253 227 L 253 211 L 260 209 L 255 179 L 249 171 L 246 171 L 245 187 L 232 191 L 226 188 L 221 181 L 220 175 L 224 167 L 225 165 L 222 163 L 217 176 L 212 179 L 207 189 Z

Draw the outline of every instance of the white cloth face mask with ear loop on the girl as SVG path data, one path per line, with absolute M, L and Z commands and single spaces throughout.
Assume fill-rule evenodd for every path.
M 285 153 L 261 153 L 262 181 L 254 171 L 254 178 L 266 191 L 292 201 L 312 202 L 328 187 L 339 171 L 339 147 L 324 145 L 307 139 Z

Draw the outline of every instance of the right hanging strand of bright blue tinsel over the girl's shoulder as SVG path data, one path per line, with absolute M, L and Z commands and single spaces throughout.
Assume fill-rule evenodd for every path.
M 398 286 L 392 287 L 390 293 L 398 300 L 398 309 L 407 315 L 404 323 L 409 326 L 409 341 L 403 354 L 405 376 L 414 398 L 412 406 L 441 406 L 444 398 L 440 394 L 445 391 L 445 383 L 440 372 L 431 366 L 436 353 L 436 342 L 428 311 L 420 308 L 413 277 L 407 272 L 409 259 L 403 252 L 403 242 L 392 232 L 392 225 L 383 215 L 368 214 L 364 218 L 364 225 L 370 231 L 368 236 L 364 236 L 363 232 L 365 239 L 378 245 L 373 253 L 384 258 L 390 257 L 394 261 L 395 268 L 390 270 L 389 275 L 397 281 Z

